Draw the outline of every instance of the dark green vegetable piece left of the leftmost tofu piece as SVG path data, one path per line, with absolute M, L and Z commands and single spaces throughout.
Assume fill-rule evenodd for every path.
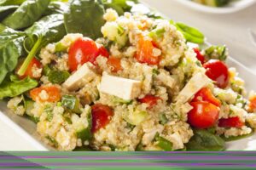
M 65 82 L 68 77 L 70 77 L 68 71 L 50 71 L 48 75 L 49 82 L 54 84 L 61 84 L 62 82 Z

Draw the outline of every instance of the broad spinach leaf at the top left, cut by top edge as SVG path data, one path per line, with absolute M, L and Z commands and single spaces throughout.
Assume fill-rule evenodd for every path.
M 3 24 L 15 30 L 32 26 L 44 14 L 48 4 L 49 0 L 27 0 L 5 18 Z

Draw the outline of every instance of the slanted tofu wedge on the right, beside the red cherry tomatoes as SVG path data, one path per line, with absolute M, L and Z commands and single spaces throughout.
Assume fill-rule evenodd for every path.
M 185 103 L 211 80 L 202 72 L 196 73 L 177 96 L 177 102 Z

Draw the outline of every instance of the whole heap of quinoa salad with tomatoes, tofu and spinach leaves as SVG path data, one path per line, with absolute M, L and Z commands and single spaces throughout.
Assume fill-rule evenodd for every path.
M 73 0 L 29 28 L 10 24 L 16 12 L 3 20 L 0 40 L 24 48 L 13 69 L 0 64 L 10 111 L 35 122 L 55 150 L 225 150 L 253 134 L 256 95 L 225 64 L 225 46 L 205 45 L 201 31 L 136 1 L 113 4 Z M 69 26 L 83 5 L 102 13 Z

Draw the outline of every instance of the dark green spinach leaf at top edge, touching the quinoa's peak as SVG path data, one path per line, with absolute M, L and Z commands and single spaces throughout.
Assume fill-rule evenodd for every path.
M 67 33 L 82 33 L 84 37 L 102 37 L 104 8 L 95 0 L 73 0 L 64 14 Z

